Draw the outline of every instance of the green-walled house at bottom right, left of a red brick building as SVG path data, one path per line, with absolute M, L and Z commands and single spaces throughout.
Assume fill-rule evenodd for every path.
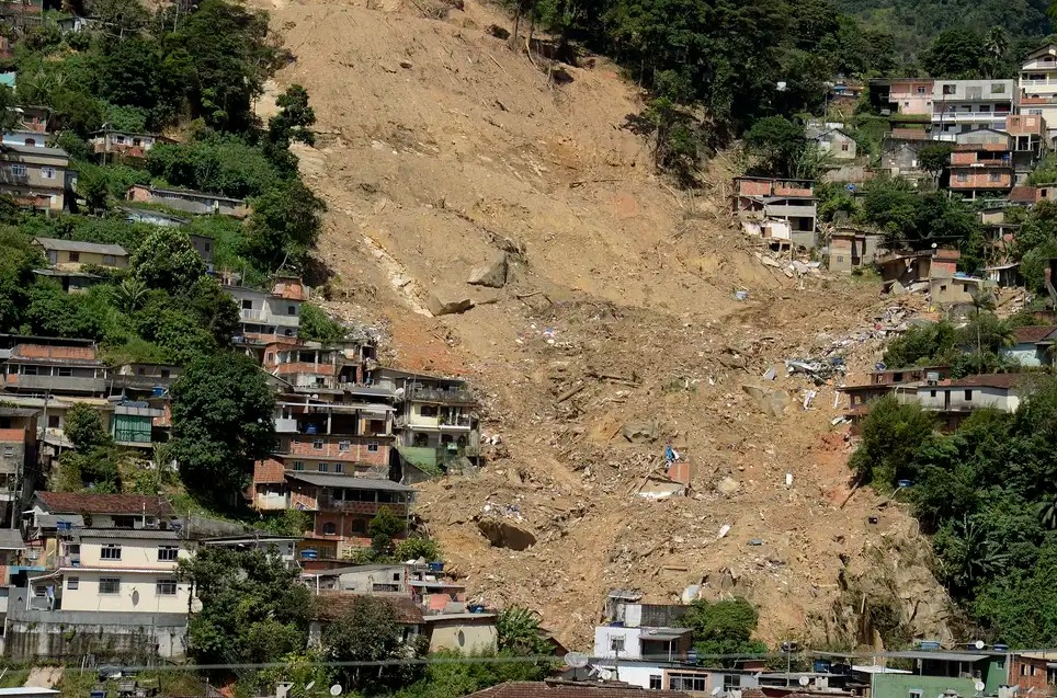
M 1004 654 L 974 652 L 893 652 L 890 659 L 910 660 L 910 674 L 877 673 L 871 676 L 872 698 L 937 698 L 956 693 L 963 697 L 995 696 L 1008 683 Z M 978 684 L 984 689 L 978 689 Z

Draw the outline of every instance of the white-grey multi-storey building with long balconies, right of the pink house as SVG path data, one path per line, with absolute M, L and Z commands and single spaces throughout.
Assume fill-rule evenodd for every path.
M 932 90 L 932 134 L 954 140 L 978 128 L 1001 130 L 1013 113 L 1013 80 L 936 80 Z

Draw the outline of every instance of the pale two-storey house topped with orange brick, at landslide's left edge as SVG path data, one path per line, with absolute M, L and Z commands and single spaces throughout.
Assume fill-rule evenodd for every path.
M 260 345 L 297 336 L 300 305 L 310 295 L 300 279 L 277 277 L 270 291 L 231 285 L 224 289 L 239 305 L 241 334 L 237 341 Z

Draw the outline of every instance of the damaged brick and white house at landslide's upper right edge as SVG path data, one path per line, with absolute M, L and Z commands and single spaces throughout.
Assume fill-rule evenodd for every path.
M 788 224 L 789 239 L 775 240 L 814 249 L 818 230 L 818 199 L 809 180 L 735 178 L 734 213 L 742 220 L 781 220 Z

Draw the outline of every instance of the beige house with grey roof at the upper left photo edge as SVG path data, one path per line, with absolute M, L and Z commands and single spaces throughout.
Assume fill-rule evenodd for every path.
M 77 173 L 61 148 L 0 146 L 0 193 L 22 208 L 60 211 L 72 201 Z

